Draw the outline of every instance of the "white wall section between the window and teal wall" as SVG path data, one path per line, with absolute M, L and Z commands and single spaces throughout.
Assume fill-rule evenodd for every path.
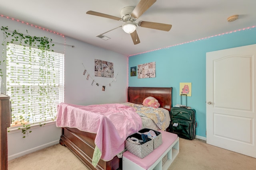
M 125 56 L 74 39 L 67 38 L 66 43 L 75 45 L 74 48 L 66 48 L 65 53 L 66 103 L 89 105 L 126 102 L 127 58 Z M 113 78 L 94 76 L 94 59 L 114 63 L 114 77 L 118 74 L 116 82 L 112 82 Z M 83 75 L 84 67 L 95 80 L 93 86 L 91 85 L 93 79 L 86 80 L 87 74 Z M 101 86 L 96 86 L 96 82 Z M 106 85 L 105 91 L 102 91 L 102 85 Z

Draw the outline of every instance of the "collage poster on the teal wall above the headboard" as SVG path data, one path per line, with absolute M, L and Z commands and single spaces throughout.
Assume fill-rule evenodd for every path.
M 138 78 L 152 77 L 156 77 L 156 62 L 138 65 Z

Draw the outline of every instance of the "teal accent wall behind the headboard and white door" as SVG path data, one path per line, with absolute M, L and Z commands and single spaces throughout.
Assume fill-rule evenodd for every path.
M 138 79 L 138 73 L 130 76 L 129 69 L 128 85 L 173 87 L 174 106 L 180 104 L 180 82 L 191 82 L 192 96 L 188 97 L 188 106 L 196 109 L 196 135 L 206 137 L 206 53 L 252 44 L 256 44 L 256 27 L 130 56 L 129 68 L 137 66 L 138 69 L 138 64 L 155 61 L 156 77 Z

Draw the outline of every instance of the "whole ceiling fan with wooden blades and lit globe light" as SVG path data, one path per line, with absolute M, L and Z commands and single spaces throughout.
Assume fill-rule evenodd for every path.
M 172 25 L 170 24 L 165 24 L 165 23 L 156 23 L 156 22 L 148 22 L 148 21 L 138 21 L 135 22 L 150 6 L 152 6 L 156 0 L 140 0 L 140 2 L 137 4 L 137 6 L 134 8 L 132 6 L 126 6 L 122 8 L 120 14 L 121 18 L 116 17 L 116 16 L 111 16 L 108 14 L 102 14 L 100 12 L 95 12 L 95 11 L 88 11 L 86 14 L 94 15 L 94 16 L 100 16 L 100 17 L 105 17 L 105 18 L 110 18 L 112 20 L 118 20 L 118 21 L 124 21 L 125 23 L 122 24 L 119 27 L 122 27 L 122 29 L 126 32 L 129 33 L 132 37 L 132 41 L 134 45 L 140 43 L 140 39 L 137 34 L 137 25 L 140 27 L 145 27 L 145 28 L 151 28 L 151 29 L 158 29 L 162 31 L 170 31 L 172 28 Z M 117 29 L 119 27 L 116 27 L 114 29 Z M 114 30 L 111 29 L 110 31 Z M 107 31 L 109 32 L 109 31 Z M 105 32 L 105 33 L 107 33 Z M 103 35 L 102 33 L 101 35 Z

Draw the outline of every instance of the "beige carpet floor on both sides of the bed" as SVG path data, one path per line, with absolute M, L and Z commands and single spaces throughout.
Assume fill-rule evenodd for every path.
M 54 145 L 10 160 L 9 170 L 89 170 L 68 148 Z M 256 158 L 180 138 L 180 153 L 168 170 L 256 170 Z

